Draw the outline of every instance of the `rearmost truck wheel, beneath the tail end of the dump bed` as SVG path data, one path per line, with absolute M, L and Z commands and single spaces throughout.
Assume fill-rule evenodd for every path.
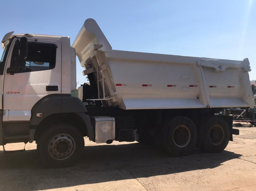
M 219 116 L 214 116 L 206 121 L 204 128 L 201 150 L 208 153 L 223 151 L 228 144 L 230 134 L 226 121 Z

